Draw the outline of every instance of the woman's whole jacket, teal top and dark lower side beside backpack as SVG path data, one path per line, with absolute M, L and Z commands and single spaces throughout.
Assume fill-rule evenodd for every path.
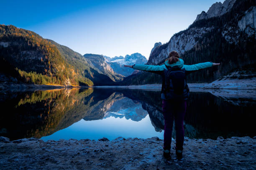
M 188 75 L 191 72 L 195 72 L 197 70 L 201 70 L 207 67 L 212 67 L 212 62 L 202 62 L 194 65 L 184 65 L 184 61 L 179 58 L 179 61 L 174 64 L 169 64 L 168 61 L 165 61 L 163 65 L 145 65 L 145 64 L 135 64 L 133 65 L 133 69 L 135 70 L 143 70 L 148 72 L 153 72 L 162 76 L 162 90 L 161 90 L 161 98 L 165 100 L 164 97 L 164 86 L 165 86 L 165 76 L 164 70 L 168 70 L 167 67 L 180 67 L 185 70 L 185 74 Z M 187 99 L 185 99 L 187 100 Z

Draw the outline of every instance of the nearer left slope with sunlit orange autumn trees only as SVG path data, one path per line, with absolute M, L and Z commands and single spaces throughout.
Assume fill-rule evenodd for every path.
M 24 82 L 36 84 L 79 85 L 83 82 L 93 85 L 86 77 L 79 76 L 77 70 L 67 63 L 54 44 L 35 32 L 0 25 L 1 61 L 18 71 Z M 5 72 L 0 68 L 1 72 Z

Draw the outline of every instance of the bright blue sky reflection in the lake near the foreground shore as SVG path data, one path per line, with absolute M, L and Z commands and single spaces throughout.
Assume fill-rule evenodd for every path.
M 151 124 L 150 118 L 146 115 L 145 118 L 136 122 L 131 119 L 108 117 L 102 120 L 85 121 L 80 120 L 73 125 L 59 130 L 58 132 L 42 137 L 44 141 L 59 140 L 59 139 L 90 139 L 98 140 L 105 137 L 113 140 L 118 137 L 124 138 L 151 138 L 157 136 L 161 139 L 164 138 L 164 131 L 156 132 Z

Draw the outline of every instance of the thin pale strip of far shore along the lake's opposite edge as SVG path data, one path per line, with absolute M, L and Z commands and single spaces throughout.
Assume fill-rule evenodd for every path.
M 222 79 L 210 83 L 187 83 L 190 89 L 212 89 L 212 90 L 256 90 L 256 77 L 251 79 Z M 22 92 L 35 90 L 52 90 L 61 88 L 127 88 L 161 90 L 161 84 L 145 85 L 108 85 L 108 86 L 64 86 L 64 85 L 36 85 L 36 84 L 15 84 L 0 83 L 0 92 Z

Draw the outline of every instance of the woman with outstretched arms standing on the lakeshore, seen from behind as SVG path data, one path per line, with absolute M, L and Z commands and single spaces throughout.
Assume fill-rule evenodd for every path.
M 135 70 L 153 72 L 162 76 L 162 108 L 164 114 L 164 157 L 170 158 L 172 143 L 172 127 L 175 121 L 176 130 L 176 155 L 182 159 L 184 143 L 184 115 L 189 97 L 186 75 L 197 70 L 201 70 L 220 63 L 203 62 L 195 65 L 184 65 L 184 61 L 179 58 L 179 53 L 172 51 L 163 65 L 124 65 Z

